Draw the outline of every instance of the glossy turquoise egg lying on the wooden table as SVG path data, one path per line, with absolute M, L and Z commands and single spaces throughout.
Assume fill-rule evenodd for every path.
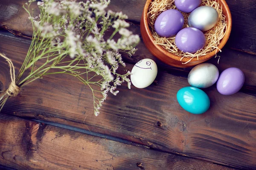
M 177 92 L 177 100 L 184 110 L 193 114 L 202 114 L 210 107 L 209 97 L 199 88 L 181 88 Z

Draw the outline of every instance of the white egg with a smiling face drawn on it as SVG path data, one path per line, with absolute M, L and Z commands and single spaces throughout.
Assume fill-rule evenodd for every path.
M 157 77 L 157 64 L 152 59 L 142 59 L 131 70 L 131 83 L 137 88 L 146 88 Z

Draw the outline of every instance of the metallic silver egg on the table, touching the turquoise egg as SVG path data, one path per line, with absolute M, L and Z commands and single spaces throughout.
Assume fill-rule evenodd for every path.
M 202 63 L 195 66 L 190 72 L 189 84 L 196 88 L 208 88 L 217 82 L 218 68 L 211 63 Z

